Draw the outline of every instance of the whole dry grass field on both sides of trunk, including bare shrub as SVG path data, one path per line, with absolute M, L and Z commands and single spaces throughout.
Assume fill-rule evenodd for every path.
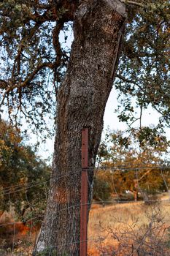
M 160 203 L 151 205 L 143 202 L 117 203 L 105 207 L 93 204 L 88 223 L 88 255 L 170 255 L 169 213 L 169 200 L 161 200 Z M 36 232 L 34 229 L 32 231 L 31 240 L 34 241 Z M 9 230 L 4 231 L 1 228 L 0 235 L 3 232 L 12 245 L 13 226 L 9 226 Z M 21 243 L 21 240 L 27 239 L 29 234 L 28 227 L 15 225 L 15 238 L 20 244 L 18 250 L 15 250 L 16 254 L 13 255 L 31 255 L 31 246 L 27 242 Z M 22 250 L 23 252 L 18 253 Z M 1 252 L 0 255 L 4 256 Z

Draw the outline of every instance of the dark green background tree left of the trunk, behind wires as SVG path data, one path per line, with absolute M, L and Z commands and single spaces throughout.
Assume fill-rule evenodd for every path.
M 1 212 L 14 207 L 23 221 L 30 213 L 31 217 L 42 214 L 50 167 L 30 146 L 23 144 L 20 131 L 5 121 L 0 123 L 0 156 Z

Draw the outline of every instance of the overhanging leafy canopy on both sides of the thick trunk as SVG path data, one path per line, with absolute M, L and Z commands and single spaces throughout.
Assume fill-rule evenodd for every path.
M 115 81 L 120 92 L 118 116 L 129 127 L 139 121 L 141 136 L 152 140 L 154 132 L 169 126 L 169 1 L 123 2 L 128 7 L 128 20 Z M 24 116 L 31 121 L 31 127 L 41 131 L 45 125 L 45 135 L 49 134 L 47 116 L 53 118 L 55 96 L 69 61 L 69 21 L 74 19 L 80 3 L 0 3 L 1 109 L 7 106 L 12 121 L 17 118 L 19 123 L 18 117 Z M 142 112 L 148 105 L 161 114 L 153 131 L 142 127 Z

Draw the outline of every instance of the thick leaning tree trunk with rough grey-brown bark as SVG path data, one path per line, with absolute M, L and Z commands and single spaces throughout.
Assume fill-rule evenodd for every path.
M 58 93 L 50 195 L 34 255 L 43 250 L 47 255 L 80 253 L 82 128 L 89 127 L 89 167 L 93 167 L 124 23 L 125 6 L 118 0 L 82 1 L 75 12 L 71 59 Z M 88 178 L 90 203 L 93 170 Z

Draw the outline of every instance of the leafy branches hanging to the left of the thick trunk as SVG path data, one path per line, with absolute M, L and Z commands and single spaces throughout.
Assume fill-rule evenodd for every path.
M 47 123 L 68 62 L 58 37 L 69 25 L 59 21 L 65 11 L 55 9 L 54 1 L 0 3 L 0 105 L 7 106 L 12 122 L 29 121 L 45 136 L 52 132 Z

